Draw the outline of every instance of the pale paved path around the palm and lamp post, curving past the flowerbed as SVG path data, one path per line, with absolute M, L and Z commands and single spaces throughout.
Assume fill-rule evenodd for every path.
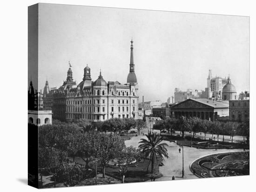
M 144 130 L 145 131 L 145 130 Z M 146 129 L 145 132 L 148 132 Z M 134 146 L 138 147 L 138 142 L 141 138 L 146 138 L 145 135 L 139 135 L 132 137 L 131 140 L 125 141 L 126 146 Z M 175 180 L 180 179 L 197 179 L 189 168 L 189 165 L 196 159 L 215 153 L 224 153 L 224 152 L 235 152 L 235 151 L 243 151 L 243 149 L 218 149 L 215 151 L 213 149 L 197 149 L 195 147 L 186 147 L 184 146 L 184 178 L 182 176 L 182 153 L 179 153 L 179 146 L 176 145 L 174 142 L 164 141 L 168 144 L 168 156 L 169 159 L 164 160 L 164 166 L 159 167 L 160 173 L 163 174 L 163 177 L 156 179 L 156 181 L 165 181 L 171 180 L 172 176 L 175 176 Z

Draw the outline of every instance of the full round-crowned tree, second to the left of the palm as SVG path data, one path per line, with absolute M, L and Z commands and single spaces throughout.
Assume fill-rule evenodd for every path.
M 115 159 L 117 154 L 125 147 L 124 140 L 116 134 L 100 134 L 97 144 L 96 158 L 102 167 L 102 177 L 105 177 L 105 167 L 109 160 Z M 97 146 L 95 146 L 97 147 Z

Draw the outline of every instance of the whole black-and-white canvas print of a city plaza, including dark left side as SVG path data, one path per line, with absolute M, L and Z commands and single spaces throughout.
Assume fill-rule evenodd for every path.
M 249 175 L 249 63 L 248 16 L 29 6 L 28 184 Z

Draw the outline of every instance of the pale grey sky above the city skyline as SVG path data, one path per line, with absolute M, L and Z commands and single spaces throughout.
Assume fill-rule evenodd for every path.
M 60 87 L 69 61 L 77 83 L 87 64 L 94 81 L 101 69 L 127 83 L 131 38 L 139 101 L 204 90 L 209 69 L 249 90 L 249 17 L 57 4 L 39 5 L 39 88 Z

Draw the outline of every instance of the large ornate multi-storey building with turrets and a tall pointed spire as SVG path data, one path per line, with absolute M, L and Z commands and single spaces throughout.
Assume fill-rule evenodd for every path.
M 53 110 L 53 118 L 73 122 L 75 119 L 104 121 L 110 118 L 138 119 L 138 83 L 135 75 L 133 41 L 127 83 L 106 82 L 101 74 L 96 81 L 91 79 L 91 69 L 84 68 L 84 76 L 78 85 L 73 81 L 71 65 L 67 80 L 58 90 L 50 90 L 44 97 L 45 108 Z

